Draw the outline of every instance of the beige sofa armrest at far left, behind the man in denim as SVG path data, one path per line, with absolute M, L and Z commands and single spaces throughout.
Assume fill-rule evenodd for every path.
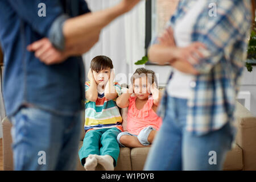
M 3 170 L 13 170 L 13 150 L 11 144 L 13 139 L 11 138 L 11 122 L 7 117 L 2 120 L 3 127 Z

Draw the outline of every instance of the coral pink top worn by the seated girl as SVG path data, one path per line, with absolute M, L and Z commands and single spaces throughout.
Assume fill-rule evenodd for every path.
M 148 98 L 146 104 L 140 110 L 136 108 L 136 98 L 136 96 L 131 96 L 129 98 L 130 104 L 127 113 L 127 131 L 131 134 L 138 135 L 142 129 L 148 126 L 152 126 L 154 129 L 159 130 L 162 125 L 162 118 L 152 110 L 154 104 L 153 97 Z

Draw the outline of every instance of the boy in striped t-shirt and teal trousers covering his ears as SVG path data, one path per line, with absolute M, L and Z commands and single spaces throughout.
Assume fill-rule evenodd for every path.
M 121 86 L 114 80 L 112 60 L 96 56 L 90 63 L 89 82 L 85 82 L 85 137 L 79 151 L 81 164 L 94 171 L 101 164 L 113 171 L 119 155 L 117 135 L 122 132 L 122 117 L 115 99 Z

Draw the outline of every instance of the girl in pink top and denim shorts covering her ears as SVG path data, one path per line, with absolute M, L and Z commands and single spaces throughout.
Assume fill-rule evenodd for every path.
M 129 89 L 117 98 L 119 107 L 129 107 L 127 131 L 117 136 L 122 147 L 146 147 L 153 142 L 162 124 L 162 119 L 155 113 L 160 99 L 155 81 L 153 71 L 138 68 L 131 77 Z

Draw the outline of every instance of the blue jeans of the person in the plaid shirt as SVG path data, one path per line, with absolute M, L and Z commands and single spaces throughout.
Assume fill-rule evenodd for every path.
M 232 146 L 230 123 L 195 136 L 185 130 L 187 100 L 168 96 L 166 109 L 144 170 L 222 170 L 226 152 Z

